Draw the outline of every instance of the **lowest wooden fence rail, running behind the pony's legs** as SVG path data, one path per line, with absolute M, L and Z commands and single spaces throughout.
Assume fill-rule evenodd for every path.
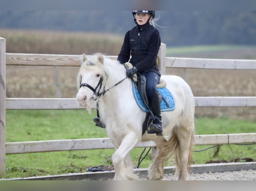
M 195 135 L 195 145 L 255 143 L 256 133 Z M 140 142 L 135 147 L 155 147 L 153 141 Z M 109 138 L 43 140 L 6 143 L 6 154 L 35 152 L 113 149 Z

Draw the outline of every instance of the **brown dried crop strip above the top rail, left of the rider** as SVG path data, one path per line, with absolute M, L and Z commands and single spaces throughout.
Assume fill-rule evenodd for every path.
M 80 55 L 96 52 L 116 55 L 123 37 L 103 33 L 3 30 L 7 53 Z M 111 47 L 111 48 L 110 48 Z

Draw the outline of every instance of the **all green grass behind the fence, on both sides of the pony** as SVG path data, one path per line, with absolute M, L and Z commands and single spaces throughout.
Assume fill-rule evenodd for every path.
M 86 110 L 7 110 L 6 142 L 107 137 L 105 129 L 94 126 L 95 116 L 95 110 L 92 115 Z M 247 133 L 255 132 L 256 124 L 247 120 L 199 117 L 196 127 L 196 134 Z M 210 146 L 195 146 L 194 150 Z M 143 149 L 132 150 L 134 165 Z M 255 145 L 222 145 L 214 156 L 216 149 L 194 152 L 194 164 L 219 159 L 256 159 Z M 6 178 L 86 172 L 92 166 L 112 164 L 113 152 L 114 149 L 99 149 L 6 155 Z M 139 167 L 147 168 L 150 163 L 151 151 Z M 165 166 L 170 165 L 170 161 L 165 162 Z

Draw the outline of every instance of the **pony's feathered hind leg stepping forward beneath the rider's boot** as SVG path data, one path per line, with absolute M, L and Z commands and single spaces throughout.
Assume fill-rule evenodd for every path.
M 148 168 L 148 180 L 162 180 L 163 179 L 163 167 L 164 167 L 164 159 L 166 157 L 166 153 L 164 152 L 164 143 L 167 140 L 161 136 L 158 137 L 157 140 L 154 140 L 157 145 L 157 154 Z

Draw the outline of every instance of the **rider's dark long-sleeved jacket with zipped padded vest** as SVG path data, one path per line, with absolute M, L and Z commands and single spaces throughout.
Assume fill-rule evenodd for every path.
M 149 23 L 135 26 L 125 34 L 124 43 L 117 60 L 124 64 L 129 61 L 138 72 L 155 72 L 161 75 L 156 58 L 161 45 L 158 30 Z

